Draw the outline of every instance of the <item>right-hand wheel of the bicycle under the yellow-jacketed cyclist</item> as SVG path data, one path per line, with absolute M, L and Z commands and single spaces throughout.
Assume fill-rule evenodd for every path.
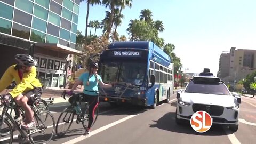
M 49 143 L 52 140 L 55 121 L 48 110 L 39 110 L 35 113 L 36 129 L 30 130 L 29 140 L 32 143 Z

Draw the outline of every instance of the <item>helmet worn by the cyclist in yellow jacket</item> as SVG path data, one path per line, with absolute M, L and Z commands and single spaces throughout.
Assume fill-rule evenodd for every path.
M 17 54 L 15 55 L 15 60 L 17 65 L 31 67 L 37 64 L 37 61 L 33 59 L 31 55 L 28 54 Z

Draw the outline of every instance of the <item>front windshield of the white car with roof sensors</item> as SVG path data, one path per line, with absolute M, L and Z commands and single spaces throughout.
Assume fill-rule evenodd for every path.
M 184 92 L 230 95 L 227 87 L 223 83 L 209 82 L 189 82 Z

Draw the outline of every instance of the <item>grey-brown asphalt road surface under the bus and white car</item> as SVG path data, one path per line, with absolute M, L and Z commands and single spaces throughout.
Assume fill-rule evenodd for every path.
M 239 129 L 214 125 L 205 133 L 195 132 L 189 124 L 175 123 L 175 95 L 169 103 L 156 109 L 124 105 L 111 107 L 101 102 L 100 114 L 90 135 L 85 136 L 82 124 L 71 125 L 69 133 L 50 143 L 256 143 L 256 100 L 242 97 Z M 66 106 L 52 107 L 55 122 Z M 18 142 L 16 140 L 16 142 Z

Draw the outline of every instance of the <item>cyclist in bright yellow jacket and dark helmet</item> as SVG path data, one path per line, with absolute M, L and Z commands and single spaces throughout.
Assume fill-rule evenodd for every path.
M 14 80 L 17 84 L 14 89 L 4 96 L 4 100 L 10 100 L 12 97 L 18 105 L 25 110 L 25 129 L 35 129 L 33 111 L 28 102 L 35 98 L 36 92 L 41 92 L 42 85 L 36 79 L 36 60 L 28 54 L 15 55 L 17 65 L 12 65 L 5 71 L 0 79 L 0 92 L 6 89 Z

